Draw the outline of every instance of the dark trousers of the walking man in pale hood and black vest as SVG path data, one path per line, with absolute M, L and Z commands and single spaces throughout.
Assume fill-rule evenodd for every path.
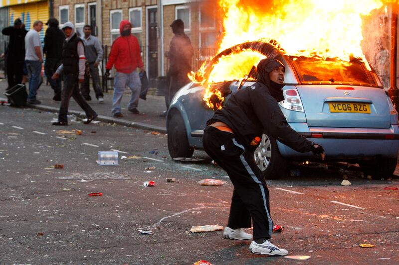
M 76 103 L 86 112 L 87 117 L 93 117 L 96 112 L 87 104 L 79 91 L 79 79 L 77 74 L 64 74 L 64 87 L 61 91 L 61 106 L 59 108 L 58 121 L 68 122 L 69 100 L 75 99 Z

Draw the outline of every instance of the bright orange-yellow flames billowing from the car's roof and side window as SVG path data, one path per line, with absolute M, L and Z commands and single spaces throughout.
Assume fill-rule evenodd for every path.
M 223 11 L 223 38 L 219 52 L 236 44 L 262 38 L 276 40 L 287 55 L 322 58 L 362 59 L 368 62 L 361 48 L 362 16 L 387 2 L 397 0 L 218 0 Z M 245 53 L 246 55 L 241 53 Z M 252 52 L 254 53 L 254 52 Z M 264 57 L 264 56 L 263 56 Z M 207 83 L 203 100 L 216 93 L 211 84 L 224 80 L 239 80 L 248 74 L 248 66 L 256 65 L 262 55 L 250 51 L 234 52 L 220 58 L 208 78 L 205 64 L 192 80 Z M 247 60 L 245 60 L 245 58 Z M 243 66 L 245 71 L 234 66 Z M 249 67 L 250 69 L 250 67 Z M 196 76 L 196 78 L 194 78 Z M 202 78 L 202 79 L 201 79 Z M 220 97 L 219 97 L 220 96 Z

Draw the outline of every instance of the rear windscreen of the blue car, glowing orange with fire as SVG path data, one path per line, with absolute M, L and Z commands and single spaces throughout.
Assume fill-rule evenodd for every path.
M 377 86 L 363 62 L 351 62 L 317 57 L 291 57 L 301 81 L 307 84 L 342 83 L 361 86 Z

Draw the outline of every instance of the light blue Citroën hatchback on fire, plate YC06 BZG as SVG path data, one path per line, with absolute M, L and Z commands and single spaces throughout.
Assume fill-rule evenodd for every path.
M 245 60 L 229 61 L 235 55 Z M 368 63 L 355 57 L 343 61 L 287 55 L 268 41 L 246 42 L 220 52 L 199 76 L 192 77 L 194 82 L 178 91 L 167 115 L 171 157 L 191 157 L 202 148 L 203 129 L 213 109 L 222 107 L 231 93 L 251 86 L 253 66 L 266 57 L 285 65 L 285 99 L 279 105 L 295 131 L 320 143 L 328 161 L 359 163 L 374 178 L 392 176 L 399 149 L 398 113 Z M 209 82 L 226 67 L 235 71 L 231 79 L 224 76 Z M 269 179 L 284 174 L 287 161 L 313 158 L 310 152 L 298 153 L 267 134 L 254 157 Z

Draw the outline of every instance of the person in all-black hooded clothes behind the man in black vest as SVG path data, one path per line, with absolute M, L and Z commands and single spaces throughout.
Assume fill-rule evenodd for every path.
M 53 100 L 61 101 L 61 79 L 53 80 L 51 77 L 61 65 L 62 44 L 65 40 L 65 34 L 58 27 L 58 20 L 50 17 L 46 23 L 48 26 L 44 35 L 43 53 L 46 55 L 44 63 L 44 72 L 48 83 L 54 90 Z

